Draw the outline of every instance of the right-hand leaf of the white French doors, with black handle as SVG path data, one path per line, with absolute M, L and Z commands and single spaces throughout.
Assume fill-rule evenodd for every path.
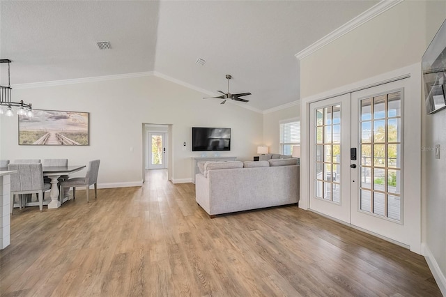
M 405 133 L 404 119 L 420 114 L 420 103 L 405 104 L 407 89 L 408 79 L 402 79 L 352 93 L 351 142 L 358 158 L 352 161 L 351 224 L 410 246 L 420 228 L 420 192 L 405 185 L 420 180 L 405 174 L 411 161 L 404 152 L 420 148 L 417 131 Z

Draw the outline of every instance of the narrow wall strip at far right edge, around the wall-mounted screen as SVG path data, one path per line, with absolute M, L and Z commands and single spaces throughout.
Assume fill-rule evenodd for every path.
M 429 21 L 426 26 L 426 40 L 429 43 L 446 18 L 446 1 L 428 2 L 426 7 L 426 18 Z M 423 108 L 423 241 L 429 266 L 434 271 L 437 270 L 438 274 L 443 273 L 443 279 L 436 280 L 446 296 L 446 111 L 426 115 L 424 110 Z M 436 144 L 440 144 L 442 148 L 440 160 L 435 159 L 433 153 Z

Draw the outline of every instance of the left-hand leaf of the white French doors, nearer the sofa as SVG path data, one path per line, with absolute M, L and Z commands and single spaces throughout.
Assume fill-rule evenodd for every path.
M 350 94 L 310 105 L 310 208 L 351 221 Z

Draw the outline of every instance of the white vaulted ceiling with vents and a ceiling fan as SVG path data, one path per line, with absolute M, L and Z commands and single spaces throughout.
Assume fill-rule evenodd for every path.
M 154 71 L 214 93 L 231 74 L 231 93 L 265 110 L 299 99 L 295 54 L 376 3 L 2 0 L 0 59 L 13 85 Z

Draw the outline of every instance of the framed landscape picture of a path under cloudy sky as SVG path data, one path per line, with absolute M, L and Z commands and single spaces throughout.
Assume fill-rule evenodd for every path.
M 34 146 L 88 146 L 89 112 L 33 110 L 19 116 L 19 144 Z

